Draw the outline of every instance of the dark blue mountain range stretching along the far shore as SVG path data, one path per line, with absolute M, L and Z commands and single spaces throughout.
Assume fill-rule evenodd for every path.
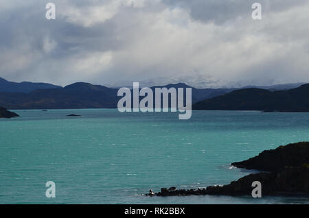
M 152 86 L 192 88 L 193 110 L 309 111 L 309 84 L 256 88 L 194 88 L 185 83 Z M 140 85 L 141 88 L 144 86 Z M 292 88 L 291 88 L 292 87 Z M 8 109 L 117 108 L 118 88 L 78 82 L 61 87 L 0 78 L 0 106 Z

